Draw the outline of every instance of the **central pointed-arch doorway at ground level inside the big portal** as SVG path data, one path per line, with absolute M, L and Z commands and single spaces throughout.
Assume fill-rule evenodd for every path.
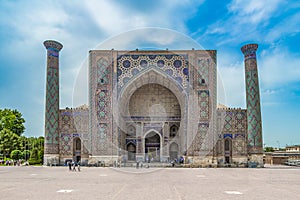
M 160 162 L 160 136 L 154 131 L 145 137 L 145 161 Z

